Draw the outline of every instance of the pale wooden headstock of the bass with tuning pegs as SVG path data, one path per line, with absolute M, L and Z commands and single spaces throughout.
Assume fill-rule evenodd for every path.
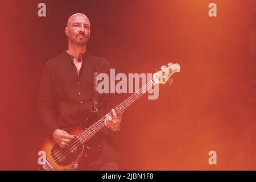
M 163 65 L 161 69 L 161 71 L 153 74 L 153 79 L 155 83 L 164 85 L 167 81 L 169 81 L 169 83 L 170 81 L 172 82 L 171 76 L 176 72 L 180 72 L 180 65 L 177 63 L 168 63 L 168 67 Z

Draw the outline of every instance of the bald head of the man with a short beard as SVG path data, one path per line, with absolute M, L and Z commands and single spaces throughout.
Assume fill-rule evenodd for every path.
M 90 20 L 82 13 L 76 13 L 68 18 L 65 34 L 68 36 L 68 44 L 85 46 L 90 38 Z

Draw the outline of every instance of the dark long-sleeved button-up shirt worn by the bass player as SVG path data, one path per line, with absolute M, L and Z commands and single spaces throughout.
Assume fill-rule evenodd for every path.
M 40 84 L 38 110 L 47 136 L 56 129 L 66 130 L 76 126 L 81 114 L 95 110 L 94 73 L 107 73 L 108 61 L 86 52 L 82 57 L 79 74 L 73 56 L 66 51 L 44 66 Z M 113 94 L 98 94 L 98 118 L 117 105 Z M 118 146 L 114 131 L 104 127 L 101 133 L 101 154 L 92 164 L 117 160 Z

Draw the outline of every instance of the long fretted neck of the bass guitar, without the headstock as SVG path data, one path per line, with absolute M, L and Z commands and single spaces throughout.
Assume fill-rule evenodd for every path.
M 149 82 L 147 82 L 146 85 L 142 86 L 142 88 L 137 90 L 137 92 L 135 92 L 130 97 L 128 97 L 125 101 L 123 101 L 121 104 L 116 106 L 114 108 L 115 113 L 118 115 L 119 113 L 121 113 L 122 111 L 127 109 L 127 107 L 132 105 L 136 100 L 138 100 L 138 98 L 140 98 L 144 93 L 146 93 L 147 88 L 149 88 L 152 85 L 155 85 L 154 82 L 155 82 L 154 79 L 150 80 Z M 112 111 L 109 111 L 108 114 L 113 118 Z M 94 123 L 92 126 L 90 126 L 88 129 L 86 129 L 83 133 L 81 133 L 79 135 L 82 143 L 85 143 L 86 141 L 88 141 L 98 131 L 100 131 L 100 129 L 102 129 L 102 127 L 105 126 L 105 124 L 104 124 L 105 119 L 106 119 L 106 115 L 104 117 L 102 117 L 101 119 L 99 119 L 96 123 Z

